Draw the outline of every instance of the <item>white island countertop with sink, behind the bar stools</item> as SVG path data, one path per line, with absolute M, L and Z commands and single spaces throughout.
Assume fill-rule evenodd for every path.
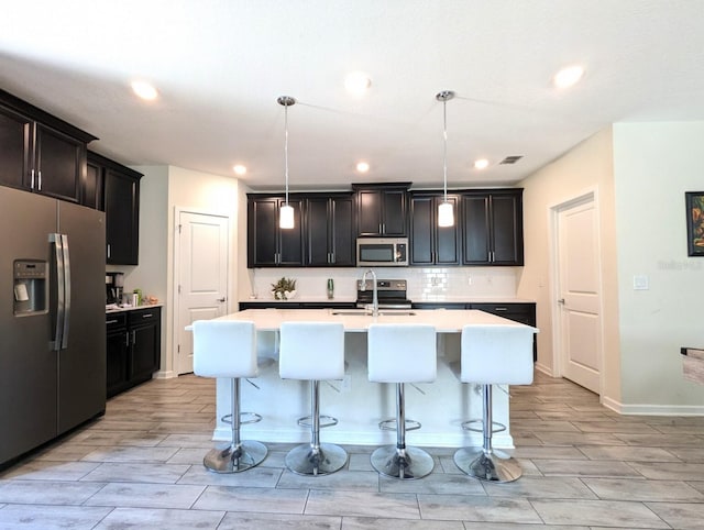
M 257 331 L 276 331 L 286 321 L 341 322 L 346 332 L 365 332 L 372 323 L 430 324 L 438 333 L 459 333 L 466 324 L 527 328 L 526 324 L 476 309 L 380 309 L 378 317 L 363 309 L 246 309 L 219 317 L 218 320 L 251 320 Z

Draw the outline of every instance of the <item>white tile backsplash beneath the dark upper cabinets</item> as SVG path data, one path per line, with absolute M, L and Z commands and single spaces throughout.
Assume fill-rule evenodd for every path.
M 272 298 L 271 285 L 282 276 L 296 280 L 298 297 L 324 298 L 327 280 L 334 281 L 334 296 L 355 299 L 356 284 L 364 268 L 254 268 L 249 269 L 250 286 L 241 286 L 240 297 Z M 516 267 L 374 267 L 378 279 L 408 281 L 413 301 L 515 297 Z

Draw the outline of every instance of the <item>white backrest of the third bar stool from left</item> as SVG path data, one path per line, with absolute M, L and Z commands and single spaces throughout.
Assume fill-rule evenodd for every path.
M 369 379 L 376 383 L 436 380 L 436 329 L 425 324 L 370 324 Z

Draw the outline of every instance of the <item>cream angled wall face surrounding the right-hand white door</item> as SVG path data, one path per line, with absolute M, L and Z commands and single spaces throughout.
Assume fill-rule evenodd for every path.
M 575 146 L 561 158 L 524 180 L 525 266 L 517 294 L 537 302 L 538 367 L 554 371 L 552 307 L 558 296 L 551 288 L 550 209 L 593 190 L 598 200 L 602 247 L 602 305 L 604 324 L 604 387 L 602 397 L 620 400 L 618 349 L 618 297 L 614 206 L 612 130 L 604 130 Z

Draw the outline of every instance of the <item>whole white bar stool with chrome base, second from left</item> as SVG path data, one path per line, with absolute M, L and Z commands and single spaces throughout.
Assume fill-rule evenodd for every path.
M 292 449 L 286 467 L 298 475 L 328 475 L 344 467 L 346 451 L 320 443 L 320 428 L 338 423 L 334 418 L 320 416 L 320 380 L 344 377 L 344 327 L 334 322 L 283 322 L 278 373 L 283 379 L 310 380 L 310 416 L 298 420 L 298 424 L 310 427 L 310 443 Z

